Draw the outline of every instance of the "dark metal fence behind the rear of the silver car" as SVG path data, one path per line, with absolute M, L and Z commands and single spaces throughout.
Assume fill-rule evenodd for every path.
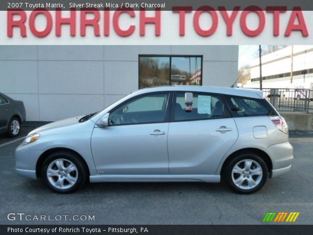
M 313 90 L 288 88 L 263 88 L 264 97 L 278 111 L 313 111 Z

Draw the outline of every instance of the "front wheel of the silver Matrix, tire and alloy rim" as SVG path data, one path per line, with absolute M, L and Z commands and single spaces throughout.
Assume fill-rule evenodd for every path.
M 86 183 L 88 170 L 80 156 L 60 151 L 52 153 L 45 159 L 41 176 L 52 191 L 71 193 Z

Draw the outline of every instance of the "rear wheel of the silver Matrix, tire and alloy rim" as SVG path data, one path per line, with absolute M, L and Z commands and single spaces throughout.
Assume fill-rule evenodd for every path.
M 267 182 L 268 166 L 262 158 L 255 154 L 241 154 L 226 165 L 225 180 L 229 188 L 237 193 L 254 193 Z

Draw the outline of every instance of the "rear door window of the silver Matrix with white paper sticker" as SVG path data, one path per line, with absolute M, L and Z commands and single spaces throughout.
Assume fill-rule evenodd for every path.
M 177 93 L 174 103 L 174 121 L 203 120 L 228 117 L 223 99 L 215 94 L 193 93 L 192 110 L 186 112 L 185 93 Z

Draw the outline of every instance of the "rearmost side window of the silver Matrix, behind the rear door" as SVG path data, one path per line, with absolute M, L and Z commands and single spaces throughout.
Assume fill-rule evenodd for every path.
M 277 115 L 266 99 L 225 96 L 233 117 Z

